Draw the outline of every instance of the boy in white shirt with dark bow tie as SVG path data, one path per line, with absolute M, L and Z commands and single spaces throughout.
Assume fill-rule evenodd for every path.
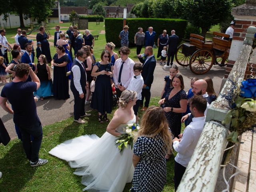
M 136 115 L 136 122 L 138 122 L 138 109 L 141 101 L 141 92 L 144 84 L 143 77 L 141 76 L 142 64 L 135 63 L 133 66 L 134 76 L 132 77 L 127 90 L 132 90 L 137 92 L 136 105 L 133 106 L 134 114 Z

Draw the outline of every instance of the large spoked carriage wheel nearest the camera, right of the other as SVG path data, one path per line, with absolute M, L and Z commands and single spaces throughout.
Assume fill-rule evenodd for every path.
M 212 68 L 214 56 L 207 49 L 200 49 L 194 52 L 190 58 L 190 70 L 197 75 L 205 74 Z

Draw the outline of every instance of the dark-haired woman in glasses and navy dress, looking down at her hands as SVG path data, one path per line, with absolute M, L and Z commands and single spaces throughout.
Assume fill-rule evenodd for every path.
M 111 71 L 112 63 L 110 52 L 103 50 L 101 60 L 96 62 L 92 68 L 92 76 L 97 77 L 95 90 L 92 94 L 91 108 L 98 110 L 98 120 L 100 123 L 108 122 L 107 113 L 112 111 L 112 87 L 110 78 L 113 76 Z

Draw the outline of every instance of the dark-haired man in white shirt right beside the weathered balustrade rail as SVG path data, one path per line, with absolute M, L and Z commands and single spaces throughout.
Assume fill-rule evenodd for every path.
M 196 144 L 200 138 L 202 130 L 204 128 L 205 115 L 207 102 L 199 95 L 195 95 L 190 100 L 190 111 L 194 118 L 192 122 L 186 126 L 183 134 L 179 135 L 179 138 L 174 138 L 173 148 L 178 154 L 174 161 L 174 187 L 177 190 L 182 176 L 188 166 L 188 162 L 196 148 Z

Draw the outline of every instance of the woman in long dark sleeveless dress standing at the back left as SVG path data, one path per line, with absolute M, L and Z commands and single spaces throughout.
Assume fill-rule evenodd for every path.
M 36 41 L 41 42 L 42 54 L 46 56 L 47 62 L 52 61 L 52 56 L 50 52 L 50 44 L 48 42 L 49 35 L 46 34 L 44 26 L 40 26 L 39 33 L 36 34 Z

